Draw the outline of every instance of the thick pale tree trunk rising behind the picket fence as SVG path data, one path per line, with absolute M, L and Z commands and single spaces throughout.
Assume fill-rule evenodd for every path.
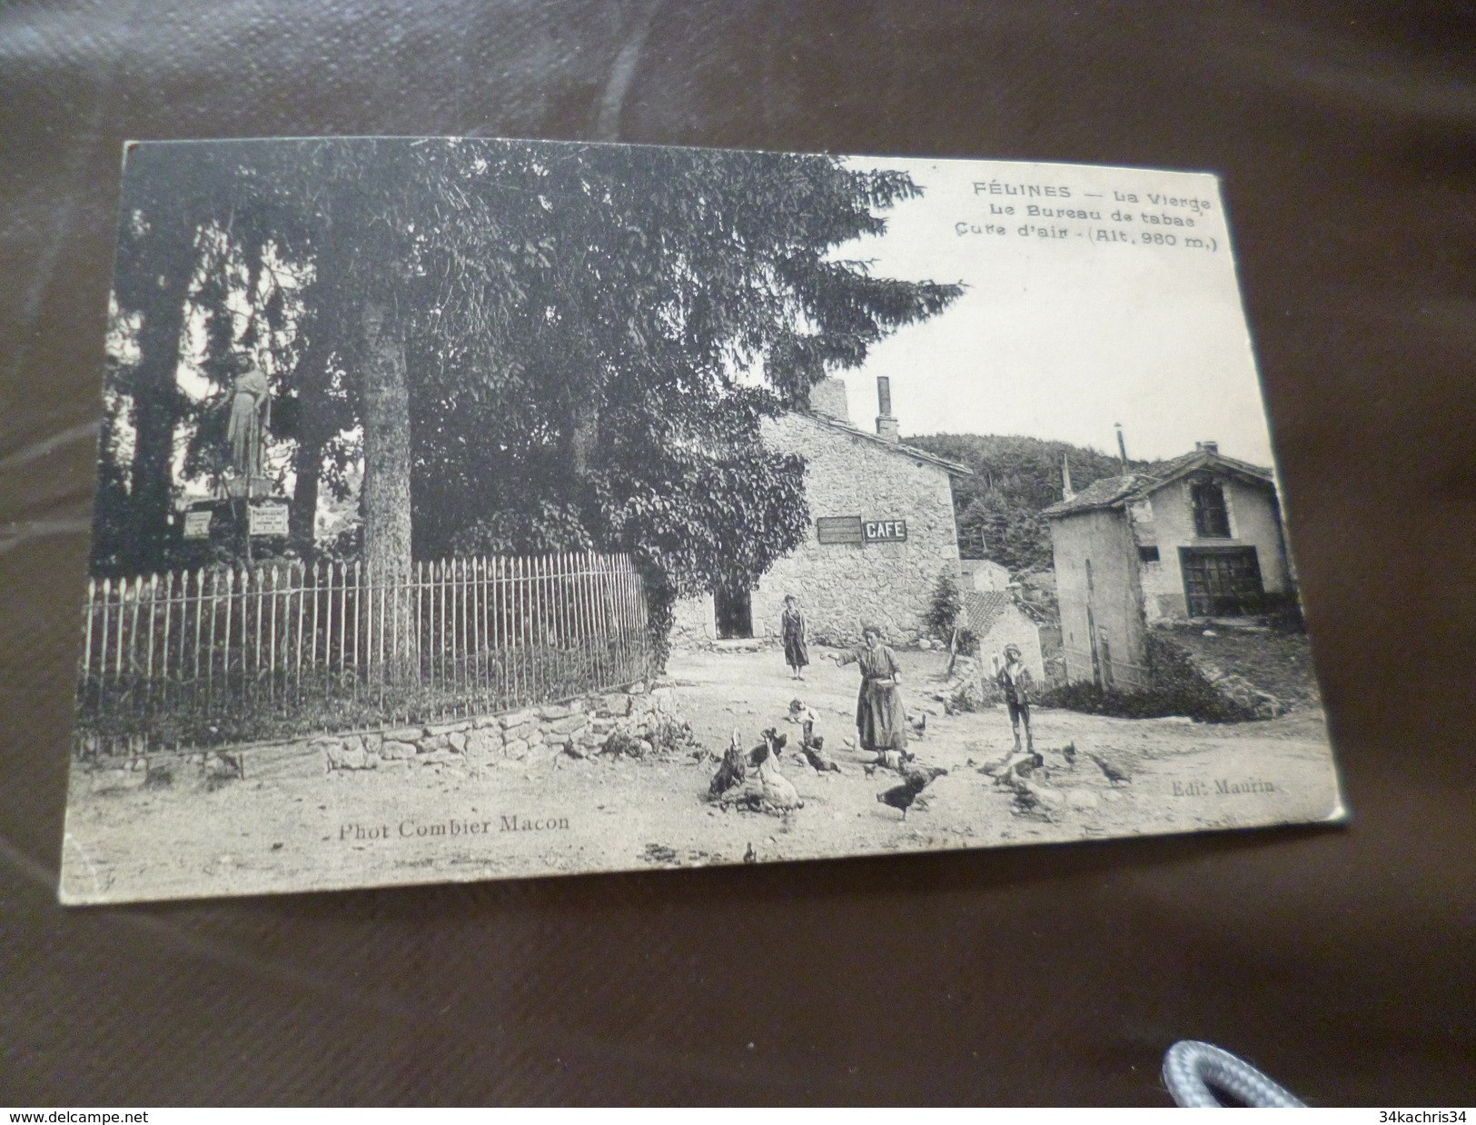
M 419 672 L 410 614 L 410 394 L 404 374 L 403 328 L 390 309 L 362 306 L 365 427 L 365 564 L 376 588 L 369 613 L 382 651 L 384 672 L 407 682 Z

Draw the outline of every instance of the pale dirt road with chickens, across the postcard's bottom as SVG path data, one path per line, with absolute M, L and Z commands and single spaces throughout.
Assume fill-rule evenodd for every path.
M 815 650 L 819 657 L 824 650 Z M 946 657 L 905 653 L 908 709 L 927 716 L 918 757 L 949 771 L 906 821 L 877 802 L 896 777 L 859 765 L 818 775 L 784 756 L 804 808 L 725 812 L 706 800 L 713 762 L 576 760 L 387 765 L 326 774 L 300 751 L 258 750 L 245 781 L 180 774 L 159 788 L 78 772 L 66 822 L 74 901 L 242 895 L 310 887 L 463 881 L 639 867 L 983 847 L 1315 821 L 1339 809 L 1320 712 L 1234 726 L 1039 710 L 1035 781 L 1021 811 L 982 766 L 1011 747 L 1002 709 L 943 715 L 927 698 Z M 667 669 L 697 741 L 720 753 L 785 722 L 793 698 L 819 716 L 827 747 L 853 737 L 858 675 L 824 658 L 803 684 L 773 651 L 676 654 Z M 1061 750 L 1075 744 L 1075 763 Z M 1128 780 L 1110 781 L 1092 754 Z

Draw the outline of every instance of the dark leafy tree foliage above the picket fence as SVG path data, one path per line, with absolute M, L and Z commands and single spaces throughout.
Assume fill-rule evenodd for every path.
M 217 447 L 215 365 L 270 356 L 298 549 L 319 484 L 344 495 L 362 449 L 370 564 L 406 565 L 412 546 L 630 551 L 658 625 L 803 536 L 803 464 L 763 447 L 762 419 L 959 292 L 838 257 L 920 189 L 828 156 L 328 140 L 151 159 L 130 167 L 149 207 L 199 189 L 167 244 L 149 227 L 120 257 L 120 309 L 152 343 L 114 390 L 187 434 L 190 471 Z M 184 281 L 155 298 L 165 250 Z M 173 379 L 190 317 L 217 387 L 205 406 Z M 143 469 L 164 506 L 168 461 Z

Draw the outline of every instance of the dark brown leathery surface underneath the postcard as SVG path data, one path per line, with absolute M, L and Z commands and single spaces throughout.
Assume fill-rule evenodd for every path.
M 1398 15 L 1393 12 L 1398 10 Z M 1476 1103 L 1476 12 L 0 10 L 0 1103 Z M 447 133 L 1219 171 L 1353 821 L 55 904 L 124 137 Z

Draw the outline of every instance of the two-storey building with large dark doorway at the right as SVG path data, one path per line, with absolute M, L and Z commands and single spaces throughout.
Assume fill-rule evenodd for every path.
M 1150 626 L 1249 617 L 1294 598 L 1271 469 L 1213 441 L 1153 474 L 1106 477 L 1079 493 L 1067 483 L 1042 515 L 1072 682 L 1147 687 Z

